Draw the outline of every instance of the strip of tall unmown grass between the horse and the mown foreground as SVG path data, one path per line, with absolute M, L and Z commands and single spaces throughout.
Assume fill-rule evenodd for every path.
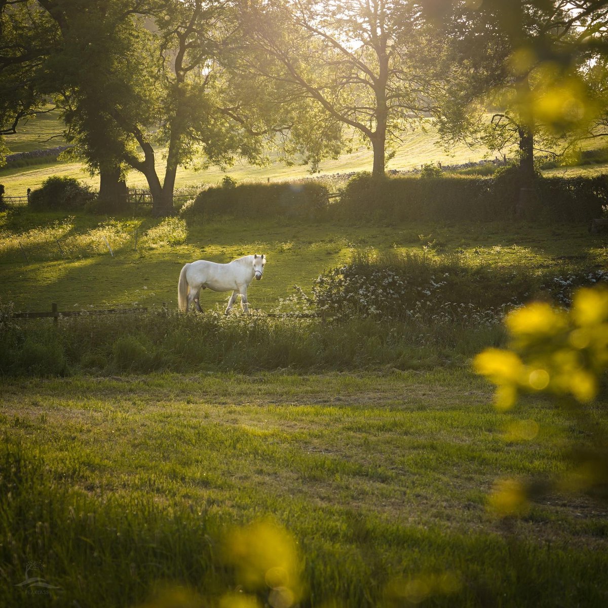
M 333 322 L 167 310 L 69 317 L 57 326 L 46 319 L 7 319 L 0 334 L 0 371 L 9 375 L 406 369 L 464 364 L 502 339 L 496 323 L 480 326 L 465 315 L 439 323 L 430 315 Z

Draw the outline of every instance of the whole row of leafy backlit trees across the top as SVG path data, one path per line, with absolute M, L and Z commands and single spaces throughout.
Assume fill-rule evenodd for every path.
M 383 176 L 429 119 L 447 142 L 514 137 L 523 183 L 544 140 L 605 132 L 607 15 L 600 0 L 0 0 L 1 133 L 52 100 L 102 190 L 134 168 L 163 214 L 180 165 L 274 149 L 314 171 L 362 142 Z

